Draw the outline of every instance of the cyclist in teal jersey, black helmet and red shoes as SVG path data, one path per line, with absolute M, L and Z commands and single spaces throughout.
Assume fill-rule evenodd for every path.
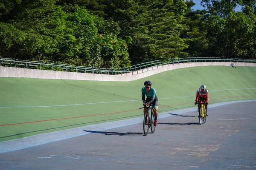
M 154 112 L 154 116 L 155 116 L 155 121 L 154 121 L 154 125 L 157 125 L 157 109 L 158 109 L 158 99 L 157 99 L 157 95 L 156 95 L 156 90 L 154 88 L 151 88 L 151 82 L 150 81 L 145 81 L 144 82 L 144 86 L 141 89 L 141 94 L 142 94 L 142 101 L 143 101 L 143 105 L 145 107 L 149 107 L 150 105 L 152 105 L 153 108 L 153 112 Z M 145 99 L 145 95 L 147 96 L 147 99 Z M 144 108 L 143 113 L 144 115 L 146 114 L 147 109 Z

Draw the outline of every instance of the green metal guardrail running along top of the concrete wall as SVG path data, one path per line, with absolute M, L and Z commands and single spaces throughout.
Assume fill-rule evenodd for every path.
M 157 66 L 163 67 L 164 65 L 174 65 L 185 62 L 253 62 L 256 63 L 256 59 L 229 59 L 229 58 L 218 58 L 218 57 L 207 57 L 207 58 L 178 58 L 178 59 L 168 59 L 168 60 L 155 60 L 150 62 L 144 62 L 137 65 L 132 65 L 125 68 L 91 68 L 84 66 L 74 66 L 66 64 L 54 64 L 54 63 L 44 63 L 36 61 L 26 61 L 10 58 L 0 58 L 0 66 L 6 67 L 16 67 L 16 68 L 31 68 L 40 70 L 52 70 L 52 71 L 70 71 L 79 73 L 92 73 L 92 74 L 128 74 L 134 71 L 140 71 L 145 68 L 154 69 Z

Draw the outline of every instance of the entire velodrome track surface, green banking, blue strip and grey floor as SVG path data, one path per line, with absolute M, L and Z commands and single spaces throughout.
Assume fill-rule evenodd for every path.
M 143 136 L 138 108 L 147 79 L 157 89 L 162 122 L 156 133 Z M 193 105 L 201 84 L 210 92 L 205 125 L 198 125 Z M 255 67 L 227 66 L 183 68 L 131 82 L 0 78 L 0 165 L 254 169 L 255 85 Z

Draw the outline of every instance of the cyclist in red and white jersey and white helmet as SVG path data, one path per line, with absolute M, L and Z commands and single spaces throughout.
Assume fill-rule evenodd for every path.
M 206 104 L 205 105 L 205 108 L 206 108 L 206 116 L 208 116 L 208 113 L 207 113 L 207 105 L 208 105 L 208 102 L 209 102 L 209 92 L 208 90 L 206 90 L 206 86 L 205 85 L 201 85 L 201 87 L 199 88 L 199 90 L 196 91 L 196 99 L 195 99 L 195 105 L 198 104 L 198 112 L 199 112 L 199 109 L 200 109 L 200 103 L 198 103 L 198 100 L 199 99 L 202 99 L 202 101 L 204 101 L 204 103 Z

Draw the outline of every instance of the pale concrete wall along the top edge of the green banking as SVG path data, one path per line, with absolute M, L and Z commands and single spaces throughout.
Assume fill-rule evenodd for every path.
M 132 81 L 142 79 L 163 71 L 174 70 L 178 68 L 209 66 L 209 65 L 223 65 L 223 66 L 251 66 L 256 67 L 256 63 L 246 62 L 190 62 L 180 63 L 174 65 L 154 66 L 145 68 L 140 71 L 122 75 L 105 75 L 105 74 L 90 74 L 90 73 L 73 73 L 65 71 L 49 71 L 36 70 L 27 68 L 12 68 L 0 67 L 0 77 L 17 77 L 17 78 L 38 78 L 38 79 L 73 79 L 73 80 L 93 80 L 93 81 Z

